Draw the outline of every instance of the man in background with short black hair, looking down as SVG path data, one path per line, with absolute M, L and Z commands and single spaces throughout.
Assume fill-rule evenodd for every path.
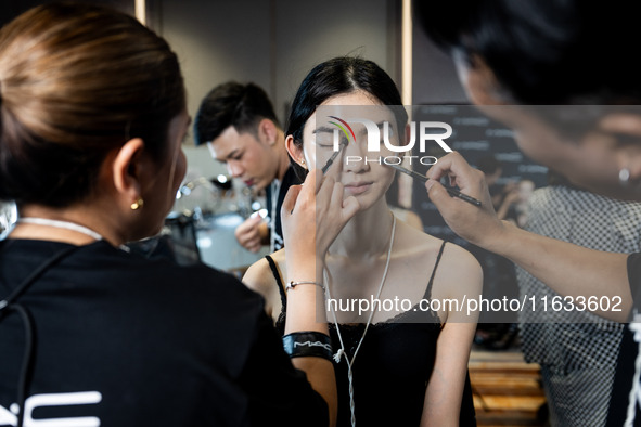
M 266 190 L 268 222 L 252 216 L 235 230 L 253 253 L 262 245 L 283 247 L 280 208 L 287 190 L 300 181 L 290 167 L 285 137 L 267 93 L 254 83 L 230 81 L 202 101 L 194 124 L 195 144 L 206 143 L 233 178 L 255 191 Z

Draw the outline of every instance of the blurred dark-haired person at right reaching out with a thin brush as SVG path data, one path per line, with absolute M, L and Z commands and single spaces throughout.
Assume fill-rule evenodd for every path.
M 641 200 L 639 14 L 624 0 L 415 2 L 451 54 L 470 100 L 514 130 L 531 159 L 608 197 Z M 483 207 L 451 198 L 447 176 Z M 624 328 L 607 426 L 641 426 L 641 253 L 608 253 L 497 218 L 483 172 L 458 153 L 427 171 L 430 199 L 469 242 L 511 259 L 560 295 Z M 592 206 L 593 209 L 602 209 Z M 591 385 L 594 392 L 598 384 Z

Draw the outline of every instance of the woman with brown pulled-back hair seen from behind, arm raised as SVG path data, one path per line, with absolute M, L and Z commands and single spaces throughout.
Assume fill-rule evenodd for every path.
M 165 40 L 107 9 L 35 8 L 0 30 L 0 199 L 20 212 L 0 242 L 0 424 L 334 418 L 331 355 L 289 350 L 310 386 L 258 295 L 203 264 L 123 246 L 161 230 L 185 171 L 190 119 Z M 296 195 L 284 203 L 291 233 L 308 227 Z M 293 243 L 289 274 L 315 274 L 315 241 Z M 316 294 L 300 289 L 291 302 L 287 339 L 328 342 L 326 324 L 309 314 Z

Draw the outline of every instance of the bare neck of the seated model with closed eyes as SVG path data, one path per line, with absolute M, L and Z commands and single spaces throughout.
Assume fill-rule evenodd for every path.
M 372 258 L 386 254 L 389 247 L 393 214 L 384 199 L 368 210 L 359 211 L 341 231 L 329 253 L 350 258 Z

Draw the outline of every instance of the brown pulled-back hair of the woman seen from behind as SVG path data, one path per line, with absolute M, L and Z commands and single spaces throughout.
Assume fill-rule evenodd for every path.
M 164 161 L 185 108 L 167 42 L 85 3 L 37 7 L 2 27 L 0 80 L 0 199 L 18 206 L 86 199 L 107 153 L 132 138 Z

